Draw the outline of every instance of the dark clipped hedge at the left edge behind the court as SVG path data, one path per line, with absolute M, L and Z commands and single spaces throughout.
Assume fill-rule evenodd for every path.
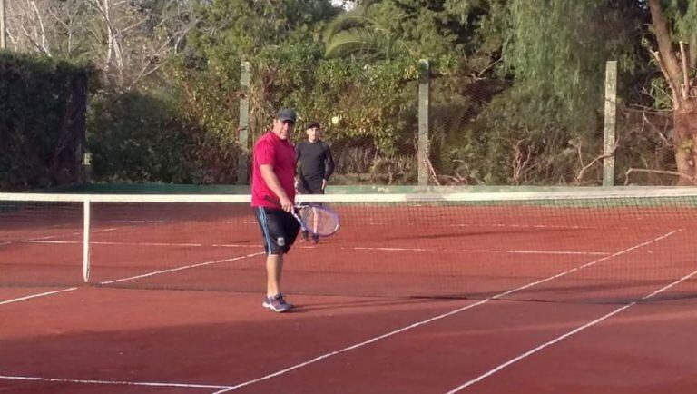
M 79 182 L 91 69 L 0 52 L 0 189 Z

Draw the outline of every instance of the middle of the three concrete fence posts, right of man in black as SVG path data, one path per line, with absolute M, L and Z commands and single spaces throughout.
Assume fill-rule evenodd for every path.
M 430 112 L 431 68 L 427 59 L 418 61 L 418 185 L 428 184 L 428 128 Z

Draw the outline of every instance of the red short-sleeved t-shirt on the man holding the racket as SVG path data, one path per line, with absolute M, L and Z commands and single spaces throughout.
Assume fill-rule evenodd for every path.
M 264 178 L 261 177 L 261 164 L 270 164 L 280 187 L 288 194 L 290 201 L 295 202 L 295 148 L 288 140 L 281 140 L 278 135 L 267 132 L 254 144 L 251 175 L 251 206 L 280 208 L 280 205 L 270 202 L 278 201 L 279 196 L 271 191 Z

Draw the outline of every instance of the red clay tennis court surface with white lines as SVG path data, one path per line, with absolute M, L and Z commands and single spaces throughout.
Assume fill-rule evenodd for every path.
M 5 226 L 0 392 L 697 392 L 694 218 L 535 213 L 373 214 L 366 234 L 346 212 L 291 251 L 287 314 L 260 306 L 249 212 L 205 244 L 200 223 L 95 225 L 91 280 L 130 289 L 80 284 L 79 223 Z M 197 290 L 137 288 L 176 283 Z

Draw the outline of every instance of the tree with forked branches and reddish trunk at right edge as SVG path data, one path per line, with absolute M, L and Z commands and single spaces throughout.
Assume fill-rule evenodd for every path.
M 678 184 L 697 184 L 697 2 L 649 0 L 658 51 L 652 51 L 672 95 Z M 671 12 L 671 18 L 664 11 Z M 685 45 L 690 40 L 691 45 Z

